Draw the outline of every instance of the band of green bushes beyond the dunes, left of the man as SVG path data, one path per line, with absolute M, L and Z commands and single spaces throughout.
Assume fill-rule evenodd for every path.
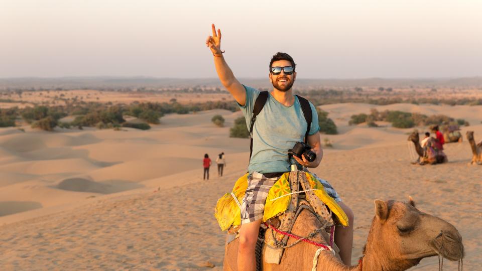
M 15 126 L 16 119 L 22 117 L 32 127 L 38 127 L 47 131 L 52 131 L 56 126 L 61 128 L 70 128 L 71 126 L 78 128 L 116 128 L 124 126 L 149 129 L 149 123 L 160 123 L 159 118 L 168 113 L 187 114 L 210 109 L 239 110 L 234 101 L 180 104 L 173 99 L 169 103 L 133 102 L 129 105 L 113 105 L 111 102 L 85 102 L 75 99 L 66 101 L 66 105 L 35 105 L 33 107 L 27 106 L 23 109 L 18 107 L 0 109 L 0 127 Z M 59 119 L 68 115 L 75 116 L 75 119 L 71 122 L 59 121 Z M 124 119 L 126 115 L 136 117 L 141 122 L 126 121 Z

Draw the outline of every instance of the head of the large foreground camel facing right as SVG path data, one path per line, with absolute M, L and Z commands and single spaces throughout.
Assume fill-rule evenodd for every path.
M 449 260 L 463 257 L 462 237 L 457 229 L 419 211 L 412 199 L 409 203 L 375 200 L 375 217 L 368 239 L 367 246 L 406 268 L 437 254 Z

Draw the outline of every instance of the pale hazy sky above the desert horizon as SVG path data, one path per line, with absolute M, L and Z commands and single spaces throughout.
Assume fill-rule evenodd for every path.
M 482 76 L 480 0 L 297 2 L 0 0 L 0 77 L 216 77 L 211 23 L 236 77 Z

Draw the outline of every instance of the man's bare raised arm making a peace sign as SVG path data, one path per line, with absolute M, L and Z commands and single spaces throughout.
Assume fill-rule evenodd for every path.
M 231 69 L 227 65 L 221 51 L 221 30 L 216 28 L 214 24 L 212 27 L 212 36 L 208 36 L 206 39 L 206 46 L 211 49 L 214 56 L 214 66 L 216 67 L 217 76 L 221 81 L 221 84 L 231 93 L 234 99 L 240 104 L 246 104 L 246 90 L 236 77 L 232 73 Z

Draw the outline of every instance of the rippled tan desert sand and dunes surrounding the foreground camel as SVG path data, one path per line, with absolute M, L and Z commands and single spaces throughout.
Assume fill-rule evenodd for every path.
M 410 164 L 413 129 L 386 123 L 348 126 L 370 108 L 464 118 L 462 143 L 445 145 L 449 163 Z M 312 171 L 328 180 L 355 214 L 352 263 L 362 255 L 374 199 L 406 201 L 452 223 L 465 245 L 465 270 L 482 269 L 482 166 L 470 166 L 465 131 L 482 139 L 482 106 L 331 104 L 339 134 Z M 211 117 L 221 114 L 225 127 Z M 241 113 L 170 114 L 142 131 L 0 128 L 0 269 L 222 269 L 225 233 L 213 216 L 249 159 L 249 140 L 229 138 Z M 385 125 L 383 125 L 385 124 Z M 422 127 L 418 128 L 424 131 Z M 202 157 L 226 154 L 218 177 L 202 180 Z M 214 266 L 213 266 L 214 265 Z M 444 262 L 447 270 L 456 262 Z M 436 257 L 413 270 L 436 270 Z

